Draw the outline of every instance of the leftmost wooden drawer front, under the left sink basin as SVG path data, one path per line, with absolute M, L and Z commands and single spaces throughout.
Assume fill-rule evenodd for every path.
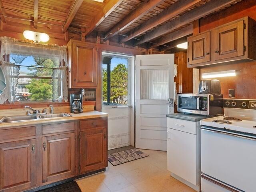
M 0 140 L 30 137 L 35 135 L 36 135 L 35 126 L 0 130 Z

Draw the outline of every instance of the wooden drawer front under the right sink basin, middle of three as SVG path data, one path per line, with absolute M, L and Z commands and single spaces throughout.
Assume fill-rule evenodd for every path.
M 75 122 L 42 126 L 42 134 L 58 133 L 58 132 L 74 131 L 74 130 L 75 130 Z

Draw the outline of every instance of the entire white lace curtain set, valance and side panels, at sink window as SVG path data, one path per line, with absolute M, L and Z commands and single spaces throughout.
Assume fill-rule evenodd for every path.
M 37 64 L 42 64 L 46 59 L 55 61 L 64 61 L 65 66 L 53 68 L 52 74 L 52 100 L 53 102 L 68 102 L 68 76 L 67 52 L 66 46 L 42 45 L 18 42 L 18 40 L 9 37 L 0 37 L 0 104 L 8 100 L 15 101 L 15 94 L 18 84 L 18 75 L 20 67 L 18 65 L 4 62 L 5 54 L 14 54 L 12 58 L 16 63 L 21 63 L 27 56 L 33 56 Z M 59 66 L 59 65 L 56 65 Z M 1 94 L 2 92 L 2 94 Z

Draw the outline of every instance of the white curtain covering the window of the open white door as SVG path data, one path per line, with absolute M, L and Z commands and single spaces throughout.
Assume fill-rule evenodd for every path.
M 141 99 L 169 98 L 169 70 L 141 70 Z

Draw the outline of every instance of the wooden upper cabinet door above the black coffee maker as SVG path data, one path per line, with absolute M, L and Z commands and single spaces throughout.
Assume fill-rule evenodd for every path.
M 73 43 L 72 83 L 75 87 L 97 86 L 97 50 L 94 45 Z

